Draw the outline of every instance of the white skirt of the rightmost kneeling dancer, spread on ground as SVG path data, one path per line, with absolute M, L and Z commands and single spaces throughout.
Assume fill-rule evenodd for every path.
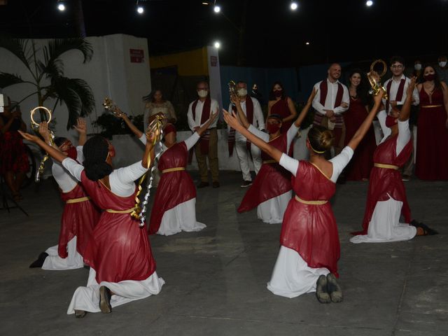
M 387 201 L 377 202 L 367 235 L 351 237 L 350 241 L 354 244 L 386 243 L 414 238 L 417 233 L 416 228 L 406 223 L 400 223 L 402 205 L 403 202 L 393 200 L 392 197 Z

